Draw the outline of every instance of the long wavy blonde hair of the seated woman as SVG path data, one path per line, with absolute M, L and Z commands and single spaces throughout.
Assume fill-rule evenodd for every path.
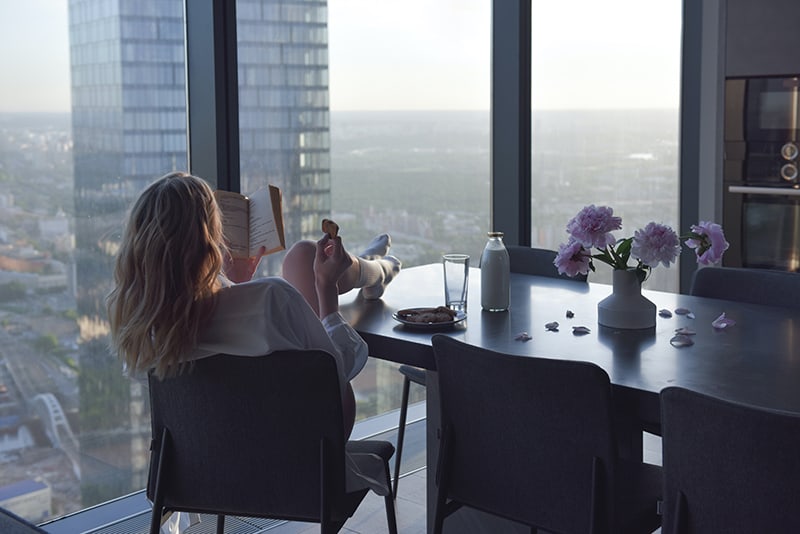
M 111 344 L 131 373 L 177 373 L 213 308 L 223 266 L 214 192 L 186 173 L 161 177 L 134 204 L 108 296 Z

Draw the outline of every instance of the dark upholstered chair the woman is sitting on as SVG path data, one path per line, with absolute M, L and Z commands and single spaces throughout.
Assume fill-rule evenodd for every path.
M 341 392 L 332 356 L 283 351 L 262 357 L 217 355 L 178 376 L 149 377 L 153 444 L 147 496 L 150 532 L 166 511 L 320 523 L 338 532 L 368 489 L 345 489 Z M 385 441 L 347 450 L 383 461 L 389 531 L 395 533 Z

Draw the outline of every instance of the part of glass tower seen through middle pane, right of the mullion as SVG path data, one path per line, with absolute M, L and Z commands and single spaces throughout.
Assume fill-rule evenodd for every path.
M 331 213 L 327 0 L 237 0 L 241 189 L 281 188 L 286 243 Z M 280 254 L 261 262 L 279 272 Z

